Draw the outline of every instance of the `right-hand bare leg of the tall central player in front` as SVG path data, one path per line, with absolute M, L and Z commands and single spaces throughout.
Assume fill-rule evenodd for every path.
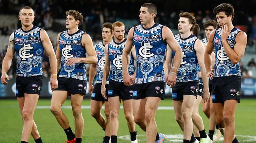
M 157 124 L 155 123 L 155 114 L 161 102 L 159 97 L 147 97 L 145 105 L 146 138 L 147 143 L 155 143 L 157 134 Z

